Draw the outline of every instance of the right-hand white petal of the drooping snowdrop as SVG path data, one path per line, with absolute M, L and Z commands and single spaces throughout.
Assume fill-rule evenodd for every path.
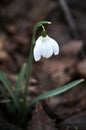
M 50 44 L 51 44 L 51 46 L 53 48 L 53 53 L 55 55 L 58 55 L 59 54 L 59 45 L 58 45 L 58 43 L 54 39 L 52 39 L 51 37 L 48 36 L 48 38 L 49 38 L 49 42 L 50 42 Z

